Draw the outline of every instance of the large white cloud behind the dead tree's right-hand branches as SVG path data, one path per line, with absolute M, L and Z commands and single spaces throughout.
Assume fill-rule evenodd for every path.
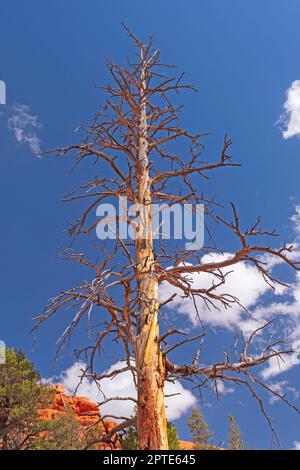
M 295 213 L 290 219 L 293 222 L 293 231 L 296 240 L 300 235 L 300 204 L 295 207 Z M 219 261 L 232 256 L 230 253 L 207 254 L 201 262 Z M 300 258 L 299 243 L 293 243 L 293 259 Z M 278 257 L 264 254 L 260 260 L 265 263 L 265 267 L 272 273 L 278 264 L 282 264 L 282 260 Z M 224 308 L 221 302 L 215 302 L 218 309 L 207 308 L 205 303 L 198 298 L 196 300 L 197 310 L 201 321 L 205 325 L 213 327 L 223 327 L 227 329 L 240 329 L 244 335 L 253 332 L 260 325 L 265 324 L 271 318 L 277 318 L 277 326 L 280 329 L 281 337 L 289 337 L 292 340 L 291 347 L 295 353 L 286 355 L 284 360 L 278 358 L 271 359 L 266 367 L 261 371 L 261 377 L 267 380 L 275 377 L 292 367 L 300 364 L 300 272 L 294 273 L 294 282 L 291 288 L 284 286 L 276 286 L 273 293 L 273 300 L 266 303 L 265 294 L 271 293 L 270 286 L 264 281 L 259 270 L 246 262 L 241 262 L 233 267 L 222 270 L 223 274 L 227 274 L 225 284 L 218 287 L 215 293 L 231 294 L 239 300 L 239 303 L 233 304 L 231 308 Z M 187 276 L 194 288 L 208 288 L 212 285 L 213 276 L 208 273 L 193 273 Z M 165 301 L 174 293 L 177 296 L 172 302 L 169 302 L 165 308 L 170 312 L 170 316 L 174 314 L 185 315 L 191 322 L 192 326 L 199 325 L 197 312 L 194 302 L 190 298 L 181 297 L 182 291 L 174 288 L 170 284 L 164 282 L 160 289 L 160 300 Z M 282 296 L 285 295 L 284 298 Z M 279 298 L 279 299 L 278 299 Z M 247 312 L 245 312 L 245 307 Z

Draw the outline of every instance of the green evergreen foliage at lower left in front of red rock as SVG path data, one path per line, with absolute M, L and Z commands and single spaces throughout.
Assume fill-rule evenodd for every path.
M 7 349 L 5 359 L 0 364 L 0 449 L 80 450 L 100 437 L 96 427 L 83 432 L 70 408 L 52 420 L 41 419 L 38 410 L 53 404 L 54 390 L 41 383 L 22 352 Z

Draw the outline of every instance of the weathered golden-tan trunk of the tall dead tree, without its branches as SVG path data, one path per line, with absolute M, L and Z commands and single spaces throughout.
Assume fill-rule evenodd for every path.
M 143 57 L 142 57 L 143 60 Z M 137 202 L 145 207 L 140 212 L 142 223 L 136 240 L 138 266 L 139 318 L 136 343 L 138 381 L 137 430 L 140 450 L 168 449 L 165 415 L 165 370 L 159 344 L 158 279 L 154 273 L 154 251 L 151 220 L 151 181 L 147 141 L 147 64 L 144 62 L 140 91 L 140 137 L 138 152 Z

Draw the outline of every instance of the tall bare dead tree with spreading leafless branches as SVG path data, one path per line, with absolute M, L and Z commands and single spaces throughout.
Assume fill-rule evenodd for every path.
M 83 234 L 93 234 L 98 223 L 95 211 L 103 202 L 127 197 L 131 204 L 146 207 L 146 213 L 144 219 L 140 219 L 142 222 L 135 226 L 135 240 L 123 239 L 116 233 L 115 240 L 103 242 L 101 250 L 95 247 L 95 259 L 92 260 L 73 248 L 66 251 L 66 258 L 91 270 L 90 281 L 62 290 L 52 298 L 38 318 L 37 327 L 60 310 L 74 310 L 74 317 L 60 338 L 62 348 L 84 318 L 88 323 L 91 318 L 96 319 L 95 340 L 81 351 L 88 358 L 88 367 L 82 375 L 92 377 L 101 388 L 104 378 L 131 371 L 137 398 L 128 399 L 137 407 L 140 449 L 168 448 L 164 383 L 180 378 L 195 381 L 195 386 L 211 383 L 216 390 L 220 380 L 244 385 L 258 400 L 273 430 L 256 387 L 290 403 L 284 395 L 257 379 L 252 371 L 271 358 L 281 360 L 286 354 L 292 354 L 293 348 L 278 339 L 271 340 L 260 352 L 254 353 L 257 335 L 269 326 L 258 325 L 256 331 L 243 340 L 242 349 L 235 348 L 234 359 L 226 354 L 224 361 L 201 367 L 195 355 L 188 365 L 173 364 L 169 357 L 171 351 L 199 340 L 203 332 L 196 337 L 184 336 L 183 340 L 169 345 L 174 335 L 186 335 L 186 332 L 169 326 L 164 308 L 176 295 L 194 299 L 195 308 L 199 299 L 207 308 L 218 308 L 218 305 L 230 308 L 239 299 L 230 292 L 220 293 L 220 286 L 226 288 L 224 268 L 232 266 L 234 269 L 240 262 L 251 263 L 265 281 L 274 286 L 279 281 L 271 276 L 264 264 L 264 254 L 280 258 L 292 269 L 299 269 L 299 263 L 291 256 L 292 247 L 272 248 L 269 242 L 257 241 L 276 235 L 273 231 L 263 231 L 259 219 L 251 228 L 243 230 L 234 206 L 233 222 L 218 215 L 221 207 L 204 194 L 201 181 L 209 179 L 214 170 L 239 166 L 229 155 L 231 139 L 225 136 L 218 158 L 210 161 L 204 157 L 206 134 L 193 134 L 180 127 L 181 106 L 175 104 L 181 91 L 193 91 L 193 87 L 182 83 L 183 76 L 170 76 L 173 68 L 161 63 L 159 51 L 153 49 L 152 38 L 143 44 L 126 30 L 137 49 L 136 58 L 128 61 L 126 66 L 108 60 L 112 84 L 101 87 L 102 93 L 106 93 L 105 102 L 89 125 L 82 127 L 82 141 L 49 153 L 62 157 L 72 155 L 75 166 L 90 160 L 95 171 L 91 181 L 65 198 L 66 201 L 87 201 L 79 220 L 69 229 L 72 240 Z M 154 202 L 169 206 L 205 204 L 209 243 L 199 250 L 187 250 L 177 242 L 153 240 L 151 206 Z M 222 253 L 214 243 L 212 224 L 229 229 L 237 237 L 239 246 L 230 257 L 203 263 L 201 258 L 205 253 Z M 211 285 L 196 288 L 189 277 L 193 273 L 209 273 Z M 162 282 L 173 286 L 174 294 L 160 305 L 158 293 Z M 125 365 L 100 375 L 95 371 L 95 356 L 105 344 L 113 344 L 112 341 L 122 346 Z M 114 432 L 132 424 L 132 418 L 123 417 L 123 422 L 102 440 L 109 441 Z

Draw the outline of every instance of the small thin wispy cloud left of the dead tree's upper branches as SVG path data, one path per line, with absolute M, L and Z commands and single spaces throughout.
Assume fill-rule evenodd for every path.
M 8 129 L 14 134 L 20 144 L 26 144 L 30 150 L 38 154 L 41 152 L 41 139 L 36 130 L 41 128 L 38 116 L 31 114 L 31 109 L 25 104 L 15 104 L 13 115 L 8 119 Z

